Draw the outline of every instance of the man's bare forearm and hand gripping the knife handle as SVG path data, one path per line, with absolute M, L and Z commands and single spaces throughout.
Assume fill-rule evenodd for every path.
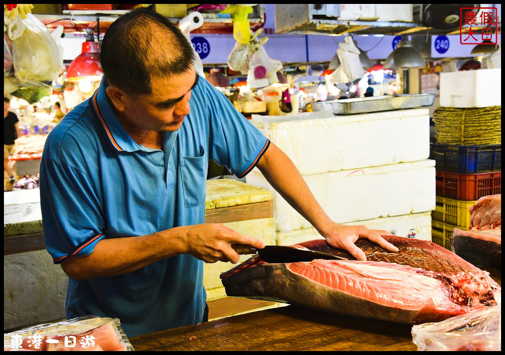
M 62 268 L 75 280 L 87 280 L 123 275 L 179 254 L 190 254 L 207 263 L 236 263 L 238 254 L 231 244 L 264 247 L 262 241 L 223 224 L 206 223 L 137 237 L 102 239 L 90 255 L 68 257 L 63 261 Z

